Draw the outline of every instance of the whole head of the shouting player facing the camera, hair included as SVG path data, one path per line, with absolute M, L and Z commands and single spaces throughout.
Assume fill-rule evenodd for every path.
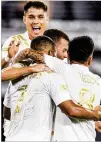
M 41 1 L 29 1 L 24 6 L 24 24 L 32 40 L 43 35 L 48 23 L 47 6 Z

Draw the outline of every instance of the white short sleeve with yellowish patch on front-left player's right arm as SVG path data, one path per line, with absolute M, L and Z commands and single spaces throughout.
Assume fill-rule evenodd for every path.
M 58 106 L 60 103 L 66 100 L 71 100 L 68 86 L 66 86 L 62 77 L 60 75 L 57 75 L 56 73 L 51 74 L 50 96 L 53 99 L 56 106 Z

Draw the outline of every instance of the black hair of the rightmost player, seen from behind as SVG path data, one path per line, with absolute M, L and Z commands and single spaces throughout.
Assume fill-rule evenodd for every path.
M 70 61 L 84 63 L 88 57 L 93 54 L 94 42 L 89 36 L 79 36 L 74 38 L 69 43 Z

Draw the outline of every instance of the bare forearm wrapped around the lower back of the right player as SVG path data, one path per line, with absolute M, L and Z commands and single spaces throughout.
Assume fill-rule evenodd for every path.
M 65 101 L 59 105 L 62 111 L 70 117 L 87 119 L 87 120 L 98 120 L 101 115 L 98 115 L 98 111 L 90 111 L 79 105 L 76 105 L 73 101 Z

